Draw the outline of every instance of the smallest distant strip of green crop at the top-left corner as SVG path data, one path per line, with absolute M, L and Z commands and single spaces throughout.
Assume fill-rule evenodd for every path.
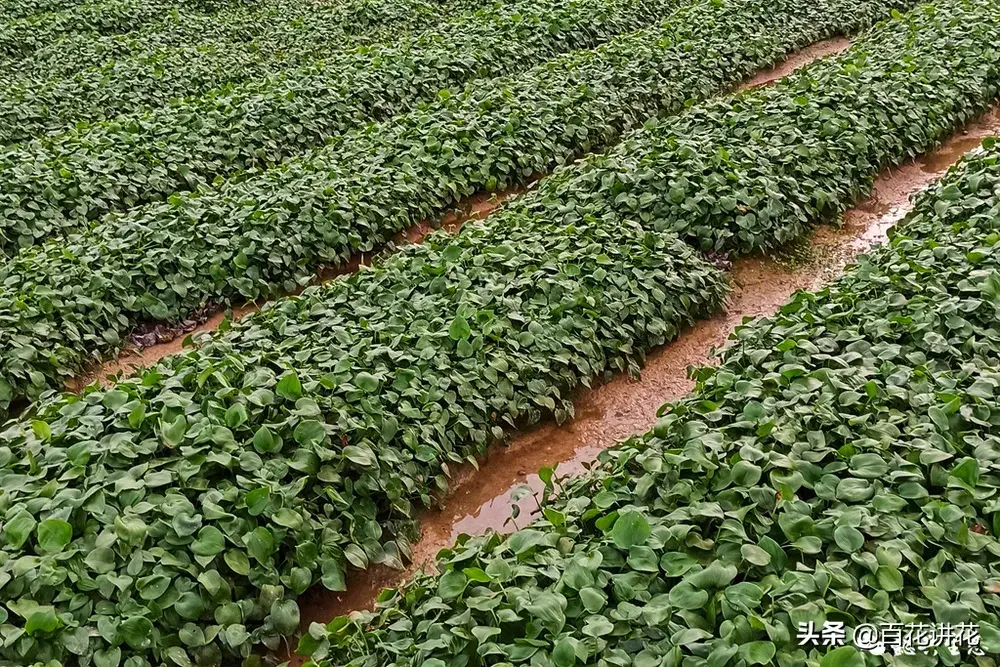
M 234 0 L 242 2 L 244 0 Z M 214 11 L 225 0 L 94 0 L 0 25 L 0 53 L 31 52 L 73 32 L 121 33 L 158 20 L 178 9 Z

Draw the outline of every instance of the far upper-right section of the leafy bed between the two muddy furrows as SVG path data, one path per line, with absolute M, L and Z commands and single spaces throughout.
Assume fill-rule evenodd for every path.
M 925 5 L 773 88 L 651 124 L 533 199 L 613 209 L 704 250 L 773 247 L 985 109 L 1000 91 L 998 44 L 995 1 Z

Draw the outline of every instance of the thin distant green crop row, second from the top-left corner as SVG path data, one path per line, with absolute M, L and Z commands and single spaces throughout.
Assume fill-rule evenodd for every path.
M 259 0 L 250 5 L 232 3 L 217 12 L 206 14 L 171 11 L 140 29 L 122 34 L 97 35 L 68 33 L 39 46 L 30 53 L 0 57 L 0 72 L 5 85 L 25 79 L 71 77 L 93 67 L 129 58 L 155 58 L 171 48 L 202 43 L 247 42 L 276 24 L 301 19 L 316 11 L 319 2 Z

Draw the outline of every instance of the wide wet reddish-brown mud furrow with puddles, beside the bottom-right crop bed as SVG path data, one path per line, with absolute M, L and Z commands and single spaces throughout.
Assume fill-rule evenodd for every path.
M 430 566 L 437 552 L 462 533 L 513 530 L 514 524 L 508 521 L 515 504 L 511 494 L 519 487 L 531 490 L 516 503 L 520 507 L 517 524 L 523 526 L 536 507 L 533 494 L 542 488 L 535 471 L 558 464 L 561 475 L 579 473 L 601 450 L 649 429 L 662 404 L 682 397 L 694 386 L 688 367 L 712 363 L 714 351 L 726 344 L 734 327 L 745 318 L 774 313 L 797 290 L 816 289 L 839 275 L 857 255 L 885 240 L 886 230 L 906 214 L 914 194 L 983 138 L 997 134 L 1000 105 L 937 150 L 883 174 L 873 194 L 844 215 L 841 227 L 816 229 L 792 249 L 793 257 L 747 257 L 734 262 L 730 271 L 733 292 L 725 312 L 697 323 L 651 353 L 640 380 L 619 376 L 580 394 L 571 422 L 543 423 L 516 437 L 509 447 L 492 452 L 479 471 L 461 470 L 445 509 L 428 511 L 422 517 L 413 565 L 402 572 L 387 568 L 351 571 L 348 591 L 341 594 L 317 588 L 308 591 L 300 599 L 303 629 L 313 621 L 327 622 L 370 608 L 381 589 L 398 586 L 417 569 Z M 291 664 L 301 665 L 301 660 Z

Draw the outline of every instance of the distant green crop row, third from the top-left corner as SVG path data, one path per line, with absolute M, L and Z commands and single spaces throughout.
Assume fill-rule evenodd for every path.
M 296 9 L 251 41 L 200 41 L 113 60 L 70 77 L 15 79 L 0 91 L 0 143 L 25 142 L 79 121 L 140 113 L 173 99 L 264 78 L 348 48 L 424 30 L 481 4 L 352 0 L 309 12 Z

